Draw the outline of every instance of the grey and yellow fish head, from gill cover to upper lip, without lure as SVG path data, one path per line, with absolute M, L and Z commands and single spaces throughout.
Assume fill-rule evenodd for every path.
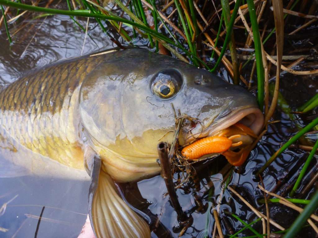
M 160 172 L 157 144 L 173 142 L 178 111 L 196 118 L 182 127 L 181 145 L 237 122 L 255 134 L 262 127 L 255 97 L 204 69 L 141 49 L 97 57 L 81 85 L 80 121 L 115 181 Z

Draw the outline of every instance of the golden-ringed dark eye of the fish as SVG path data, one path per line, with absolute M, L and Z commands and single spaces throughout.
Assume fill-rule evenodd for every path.
M 182 86 L 182 76 L 175 69 L 163 69 L 151 79 L 151 89 L 157 96 L 168 99 L 179 91 Z

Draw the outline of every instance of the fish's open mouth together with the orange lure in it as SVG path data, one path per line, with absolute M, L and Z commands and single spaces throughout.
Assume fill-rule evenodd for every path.
M 259 108 L 236 110 L 198 133 L 188 133 L 182 155 L 187 160 L 223 154 L 234 166 L 242 165 L 262 129 L 264 117 Z

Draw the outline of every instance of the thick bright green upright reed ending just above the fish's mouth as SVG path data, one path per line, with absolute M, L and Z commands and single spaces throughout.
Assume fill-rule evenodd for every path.
M 257 72 L 257 101 L 259 108 L 264 108 L 264 67 L 262 59 L 261 40 L 259 35 L 259 27 L 257 23 L 257 16 L 253 0 L 247 0 L 248 12 L 252 23 L 252 31 L 254 37 L 255 59 L 256 59 L 256 72 Z

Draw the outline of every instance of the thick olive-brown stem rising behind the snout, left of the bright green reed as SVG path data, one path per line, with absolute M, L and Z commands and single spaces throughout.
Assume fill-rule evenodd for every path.
M 233 29 L 231 30 L 229 29 L 229 23 L 231 19 L 229 0 L 221 0 L 221 4 L 222 4 L 222 15 L 224 15 L 224 23 L 225 23 L 227 34 L 231 32 L 229 48 L 231 53 L 232 65 L 233 65 L 233 83 L 239 84 L 239 65 L 238 65 L 238 58 L 236 55 L 236 44 L 235 44 Z

